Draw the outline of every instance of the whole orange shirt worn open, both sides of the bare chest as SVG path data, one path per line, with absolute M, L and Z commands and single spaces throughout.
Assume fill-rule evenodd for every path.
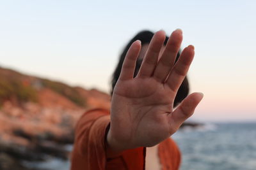
M 109 122 L 108 110 L 94 109 L 82 115 L 76 125 L 71 170 L 145 169 L 145 147 L 125 150 L 122 155 L 113 159 L 106 158 Z M 162 170 L 179 169 L 180 151 L 171 138 L 159 143 L 158 155 Z

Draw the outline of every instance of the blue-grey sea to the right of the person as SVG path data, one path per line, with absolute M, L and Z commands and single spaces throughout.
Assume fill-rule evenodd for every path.
M 209 124 L 176 132 L 180 170 L 256 170 L 256 123 Z

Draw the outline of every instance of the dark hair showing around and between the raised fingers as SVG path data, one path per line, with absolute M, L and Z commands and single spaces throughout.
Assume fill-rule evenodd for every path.
M 116 69 L 115 69 L 115 71 L 112 75 L 111 96 L 113 94 L 113 90 L 114 90 L 114 87 L 116 85 L 116 81 L 118 80 L 118 78 L 120 76 L 125 55 L 126 55 L 127 51 L 129 50 L 130 46 L 132 45 L 132 43 L 136 40 L 140 40 L 141 41 L 141 46 L 145 45 L 145 44 L 149 44 L 150 40 L 152 39 L 153 36 L 154 36 L 154 33 L 151 32 L 151 31 L 141 31 L 138 34 L 136 34 L 136 36 L 134 36 L 134 38 L 132 38 L 131 41 L 129 41 L 129 43 L 125 46 L 124 51 L 121 53 L 121 55 L 119 57 L 119 62 L 116 66 Z M 168 41 L 168 36 L 166 36 L 166 38 L 164 40 L 164 45 L 166 45 L 167 41 Z M 179 59 L 179 56 L 180 56 L 180 52 L 177 54 L 175 62 Z M 140 62 L 136 63 L 136 69 L 134 71 L 134 77 L 138 73 L 138 69 L 140 68 L 140 65 L 141 65 Z M 177 106 L 177 104 L 179 104 L 183 99 L 185 99 L 185 97 L 188 96 L 188 92 L 189 92 L 189 83 L 188 83 L 188 78 L 185 77 L 184 81 L 180 85 L 180 88 L 177 92 L 177 95 L 176 95 L 174 103 L 173 103 L 173 107 Z

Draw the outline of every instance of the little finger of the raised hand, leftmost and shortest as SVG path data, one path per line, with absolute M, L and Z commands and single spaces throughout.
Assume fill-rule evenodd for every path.
M 136 60 L 140 53 L 141 41 L 137 40 L 132 43 L 125 55 L 124 63 L 120 73 L 120 80 L 129 80 L 133 78 Z

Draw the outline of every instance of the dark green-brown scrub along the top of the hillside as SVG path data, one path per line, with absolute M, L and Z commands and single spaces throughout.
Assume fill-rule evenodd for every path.
M 0 106 L 3 101 L 10 100 L 17 103 L 26 101 L 38 101 L 38 91 L 33 87 L 33 82 L 40 81 L 42 87 L 57 92 L 61 96 L 67 97 L 78 106 L 86 106 L 86 99 L 83 98 L 73 87 L 64 83 L 47 79 L 26 76 L 12 69 L 0 67 Z M 32 84 L 31 84 L 32 83 Z

